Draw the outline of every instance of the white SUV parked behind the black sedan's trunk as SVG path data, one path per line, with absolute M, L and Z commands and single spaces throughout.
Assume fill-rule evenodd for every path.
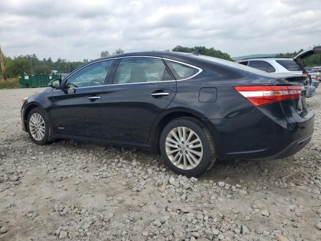
M 251 58 L 236 61 L 239 64 L 247 65 L 268 73 L 289 73 L 289 74 L 304 74 L 301 66 L 296 63 L 292 58 Z M 312 84 L 312 79 L 309 80 L 308 90 L 306 97 L 312 97 L 315 93 L 315 83 Z

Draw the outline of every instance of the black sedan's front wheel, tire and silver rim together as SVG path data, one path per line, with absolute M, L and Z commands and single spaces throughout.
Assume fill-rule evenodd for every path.
M 39 115 L 41 116 L 42 119 L 39 117 Z M 38 132 L 39 133 L 38 136 L 35 134 L 35 126 L 34 126 L 37 120 L 40 120 L 38 123 L 42 123 L 42 121 L 44 123 L 39 125 L 38 129 L 41 129 L 42 131 L 40 133 Z M 47 145 L 55 141 L 55 139 L 52 136 L 52 133 L 53 133 L 52 126 L 48 118 L 48 115 L 40 107 L 33 108 L 29 112 L 27 117 L 27 130 L 31 140 L 37 145 Z

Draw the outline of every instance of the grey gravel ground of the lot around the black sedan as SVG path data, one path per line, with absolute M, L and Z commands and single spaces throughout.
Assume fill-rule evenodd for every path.
M 321 240 L 321 89 L 311 142 L 274 161 L 220 162 L 203 176 L 160 156 L 21 130 L 21 98 L 0 90 L 0 240 Z

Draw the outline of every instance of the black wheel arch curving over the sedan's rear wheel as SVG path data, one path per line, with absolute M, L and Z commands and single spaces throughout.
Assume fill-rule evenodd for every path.
M 159 114 L 149 133 L 149 144 L 152 147 L 153 152 L 159 153 L 159 138 L 161 137 L 161 133 L 164 127 L 173 121 L 173 119 L 181 118 L 181 117 L 195 117 L 200 120 L 209 130 L 213 130 L 213 127 L 208 127 L 208 123 L 202 121 L 202 119 L 206 118 L 202 113 L 198 111 L 188 109 L 188 108 L 173 108 L 168 109 L 161 114 Z M 215 137 L 213 132 L 211 132 L 213 140 L 215 141 Z

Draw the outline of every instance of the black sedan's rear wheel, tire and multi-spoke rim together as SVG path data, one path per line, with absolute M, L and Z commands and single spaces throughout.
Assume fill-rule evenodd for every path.
M 185 139 L 183 132 L 186 133 Z M 188 140 L 190 135 L 192 137 Z M 180 142 L 177 141 L 177 138 Z M 187 143 L 183 143 L 182 140 L 186 140 Z M 189 145 L 189 143 L 191 144 Z M 159 138 L 159 150 L 164 162 L 172 171 L 187 177 L 201 175 L 210 169 L 217 159 L 212 135 L 205 125 L 195 117 L 182 117 L 170 122 Z

